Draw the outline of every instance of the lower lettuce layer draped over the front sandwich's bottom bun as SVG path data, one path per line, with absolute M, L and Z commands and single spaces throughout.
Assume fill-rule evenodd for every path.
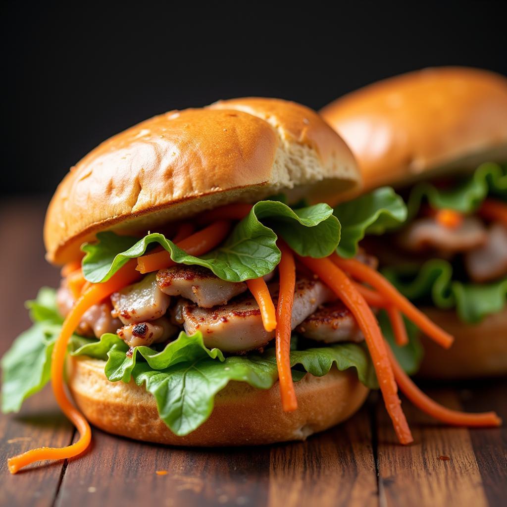
M 135 347 L 128 357 L 127 350 L 116 335 L 104 335 L 100 342 L 87 344 L 73 354 L 98 358 L 106 355 L 104 371 L 110 381 L 129 382 L 132 378 L 137 385 L 144 384 L 155 396 L 160 417 L 178 435 L 190 433 L 209 417 L 215 395 L 231 380 L 269 389 L 278 378 L 273 349 L 226 358 L 220 350 L 206 348 L 200 333 L 180 333 L 162 351 Z M 378 386 L 363 346 L 347 343 L 291 352 L 295 381 L 306 372 L 325 375 L 333 365 L 341 371 L 355 368 L 361 382 L 372 388 Z

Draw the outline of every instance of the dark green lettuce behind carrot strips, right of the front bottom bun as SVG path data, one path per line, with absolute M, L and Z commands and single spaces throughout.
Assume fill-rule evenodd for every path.
M 424 355 L 424 349 L 419 341 L 419 330 L 416 325 L 406 317 L 404 317 L 403 320 L 405 321 L 405 328 L 407 329 L 409 343 L 400 347 L 399 345 L 396 345 L 396 341 L 394 340 L 394 334 L 392 332 L 387 313 L 382 310 L 378 314 L 378 321 L 382 334 L 394 352 L 398 363 L 400 363 L 400 366 L 405 370 L 405 373 L 408 375 L 414 375 L 419 370 L 419 366 Z

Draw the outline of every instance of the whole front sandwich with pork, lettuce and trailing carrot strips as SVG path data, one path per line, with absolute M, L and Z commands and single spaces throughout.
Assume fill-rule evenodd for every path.
M 410 346 L 395 355 L 386 344 L 383 309 L 402 345 L 402 314 L 444 347 L 452 337 L 357 247 L 367 228 L 403 222 L 403 201 L 384 189 L 337 214 L 319 203 L 359 183 L 333 129 L 276 99 L 172 111 L 88 154 L 46 215 L 61 285 L 28 303 L 33 327 L 3 358 L 4 411 L 51 381 L 80 438 L 10 458 L 11 472 L 80 454 L 89 422 L 172 445 L 304 439 L 379 387 L 403 444 L 412 436 L 397 386 L 446 423 L 498 425 L 494 413 L 429 400 L 402 366 L 414 369 Z

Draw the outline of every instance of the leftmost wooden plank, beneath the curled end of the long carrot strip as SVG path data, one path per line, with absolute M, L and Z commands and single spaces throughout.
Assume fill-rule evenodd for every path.
M 17 200 L 0 208 L 0 266 L 3 289 L 0 308 L 9 316 L 8 332 L 0 334 L 0 355 L 14 338 L 30 325 L 24 307 L 40 286 L 54 285 L 58 272 L 44 260 L 42 226 L 46 203 Z M 3 330 L 7 329 L 4 325 Z M 27 400 L 19 414 L 0 415 L 0 491 L 3 505 L 52 505 L 59 487 L 63 461 L 35 466 L 12 476 L 7 469 L 9 456 L 33 447 L 65 446 L 74 428 L 53 400 L 50 388 Z

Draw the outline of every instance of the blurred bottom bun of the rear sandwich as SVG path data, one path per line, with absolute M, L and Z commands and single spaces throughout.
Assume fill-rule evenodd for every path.
M 454 336 L 445 350 L 423 337 L 424 359 L 418 375 L 464 379 L 507 375 L 507 308 L 479 324 L 462 322 L 455 311 L 425 308 L 424 313 Z

